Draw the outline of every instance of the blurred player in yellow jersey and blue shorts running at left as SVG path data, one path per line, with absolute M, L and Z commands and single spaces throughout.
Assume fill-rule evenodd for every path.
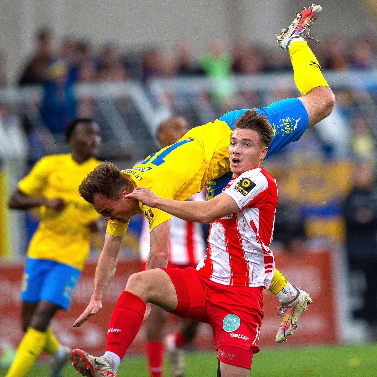
M 51 319 L 67 310 L 89 253 L 90 238 L 100 217 L 78 193 L 78 186 L 100 161 L 100 128 L 77 119 L 66 129 L 71 153 L 36 162 L 18 183 L 9 208 L 38 208 L 40 224 L 28 247 L 22 284 L 22 328 L 25 336 L 6 377 L 25 376 L 41 351 L 51 355 L 51 377 L 60 377 L 70 349 L 59 344 Z

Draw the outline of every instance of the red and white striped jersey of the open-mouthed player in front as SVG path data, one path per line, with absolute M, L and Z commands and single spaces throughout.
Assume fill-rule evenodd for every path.
M 239 212 L 211 224 L 206 255 L 197 270 L 224 285 L 270 288 L 274 255 L 268 248 L 274 228 L 277 185 L 263 167 L 232 179 L 223 193 Z

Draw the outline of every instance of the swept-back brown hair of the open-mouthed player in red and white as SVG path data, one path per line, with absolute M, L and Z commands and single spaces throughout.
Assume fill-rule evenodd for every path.
M 235 122 L 233 130 L 253 130 L 259 133 L 263 146 L 268 147 L 272 140 L 272 127 L 267 117 L 257 112 L 256 108 L 245 111 Z

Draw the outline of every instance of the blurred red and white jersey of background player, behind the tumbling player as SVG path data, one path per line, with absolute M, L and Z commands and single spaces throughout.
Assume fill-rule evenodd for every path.
M 204 194 L 197 193 L 188 200 L 204 201 Z M 143 218 L 139 250 L 141 261 L 147 260 L 149 244 L 149 223 Z M 169 240 L 169 262 L 178 265 L 196 265 L 205 253 L 205 242 L 201 224 L 172 216 Z

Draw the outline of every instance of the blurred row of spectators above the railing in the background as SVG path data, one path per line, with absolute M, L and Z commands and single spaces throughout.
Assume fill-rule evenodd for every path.
M 187 75 L 226 77 L 291 69 L 289 56 L 279 49 L 241 41 L 231 49 L 221 41 L 211 41 L 199 54 L 188 41 L 176 44 L 170 53 L 158 46 L 123 51 L 119 44 L 107 43 L 99 47 L 89 39 L 72 37 L 66 37 L 57 48 L 54 46 L 50 29 L 37 31 L 34 51 L 20 67 L 18 85 L 44 84 L 62 76 L 64 82 L 70 84 Z M 323 69 L 373 69 L 377 66 L 377 42 L 372 33 L 352 41 L 344 31 L 321 40 L 313 49 Z M 2 73 L 4 58 L 0 58 L 0 86 L 12 84 Z

